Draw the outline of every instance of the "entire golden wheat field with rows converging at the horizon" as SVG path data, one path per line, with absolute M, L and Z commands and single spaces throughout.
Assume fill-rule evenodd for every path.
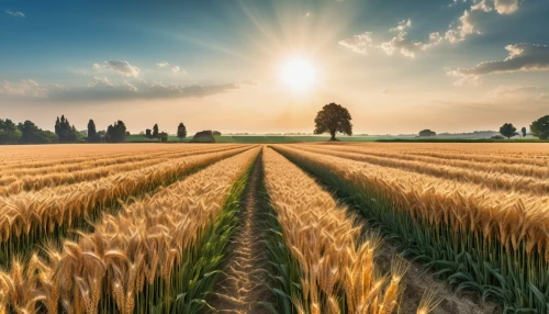
M 547 145 L 247 139 L 0 147 L 0 313 L 549 311 Z

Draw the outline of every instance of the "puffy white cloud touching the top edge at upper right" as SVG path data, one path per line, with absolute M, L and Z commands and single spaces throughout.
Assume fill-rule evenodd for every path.
M 519 0 L 473 0 L 473 4 L 459 18 L 457 25 L 450 25 L 445 38 L 452 43 L 464 41 L 469 35 L 482 34 L 478 24 L 486 12 L 496 11 L 501 15 L 515 13 L 518 10 Z

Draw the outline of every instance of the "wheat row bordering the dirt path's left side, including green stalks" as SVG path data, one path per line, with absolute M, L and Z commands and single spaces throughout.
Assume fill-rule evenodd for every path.
M 0 274 L 0 313 L 200 313 L 258 150 L 224 159 Z M 228 156 L 225 156 L 228 157 Z

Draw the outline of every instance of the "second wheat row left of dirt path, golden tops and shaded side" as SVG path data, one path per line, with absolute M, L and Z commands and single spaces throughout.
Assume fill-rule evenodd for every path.
M 27 251 L 32 245 L 46 238 L 60 238 L 71 229 L 89 225 L 89 221 L 97 221 L 104 211 L 120 208 L 121 200 L 154 192 L 161 186 L 249 148 L 187 156 L 93 182 L 63 187 L 60 190 L 44 189 L 0 199 L 1 261 L 9 262 L 13 254 Z

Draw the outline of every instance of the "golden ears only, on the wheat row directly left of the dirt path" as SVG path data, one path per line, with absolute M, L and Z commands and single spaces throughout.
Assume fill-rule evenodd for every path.
M 82 234 L 78 243 L 65 242 L 61 251 L 49 249 L 47 259 L 33 255 L 25 267 L 14 262 L 0 274 L 0 313 L 37 313 L 40 306 L 48 313 L 133 313 L 147 284 L 159 280 L 165 283 L 158 289 L 169 293 L 170 283 L 180 280 L 172 277 L 175 266 L 188 259 L 182 253 L 213 223 L 231 187 L 258 153 L 237 152 L 243 150 L 234 157 L 197 156 L 194 162 L 228 158 L 125 206 L 116 216 L 104 216 L 93 233 Z

